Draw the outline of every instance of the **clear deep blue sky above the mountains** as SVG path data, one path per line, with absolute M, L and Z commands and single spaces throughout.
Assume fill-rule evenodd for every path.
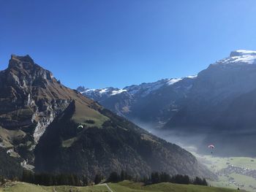
M 255 0 L 0 0 L 0 70 L 31 55 L 89 88 L 197 74 L 256 50 Z

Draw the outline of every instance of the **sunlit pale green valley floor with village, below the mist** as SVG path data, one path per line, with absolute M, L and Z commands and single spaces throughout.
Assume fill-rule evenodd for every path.
M 193 153 L 198 161 L 218 175 L 217 181 L 209 181 L 210 185 L 223 188 L 241 188 L 246 191 L 256 191 L 256 158 L 229 157 L 215 155 L 198 155 Z

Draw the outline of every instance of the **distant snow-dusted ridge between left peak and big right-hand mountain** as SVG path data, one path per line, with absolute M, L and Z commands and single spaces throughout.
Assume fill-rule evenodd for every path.
M 94 99 L 94 101 L 98 101 L 118 115 L 130 120 L 146 122 L 150 120 L 155 126 L 159 126 L 159 121 L 162 121 L 162 110 L 167 110 L 170 105 L 176 106 L 178 97 L 186 96 L 189 89 L 192 88 L 192 81 L 196 77 L 194 75 L 184 78 L 163 79 L 157 82 L 144 82 L 140 85 L 130 85 L 122 89 L 79 87 L 78 91 Z M 154 106 L 153 113 L 151 113 L 151 109 L 148 109 L 148 106 Z M 146 109 L 149 111 L 145 111 Z M 142 116 L 145 119 L 141 119 Z

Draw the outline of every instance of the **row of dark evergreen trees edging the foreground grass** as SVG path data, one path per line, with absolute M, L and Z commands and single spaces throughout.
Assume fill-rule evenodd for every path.
M 108 178 L 102 174 L 96 174 L 94 180 L 90 180 L 84 175 L 77 174 L 48 174 L 48 173 L 34 173 L 28 170 L 23 170 L 21 181 L 26 183 L 34 183 L 38 185 L 74 185 L 86 186 L 89 182 L 94 184 L 105 182 L 118 183 L 123 180 L 130 180 L 134 182 L 142 182 L 146 185 L 156 183 L 177 183 L 177 184 L 193 184 L 193 185 L 208 185 L 206 179 L 200 177 L 190 178 L 188 175 L 176 174 L 170 175 L 165 172 L 152 172 L 150 177 L 132 177 L 129 173 L 122 170 L 120 173 L 111 172 Z M 4 183 L 4 177 L 0 176 L 0 183 Z

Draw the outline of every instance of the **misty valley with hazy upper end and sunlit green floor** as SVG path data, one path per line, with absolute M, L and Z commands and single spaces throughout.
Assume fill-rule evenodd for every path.
M 219 142 L 222 142 L 220 139 L 215 145 L 216 148 L 213 150 L 213 154 L 211 154 L 211 150 L 207 147 L 207 144 L 211 143 L 211 141 L 204 142 L 206 141 L 205 134 L 178 134 L 176 131 L 157 131 L 154 129 L 149 129 L 148 131 L 169 142 L 184 147 L 184 149 L 195 155 L 201 164 L 217 174 L 217 180 L 208 180 L 209 185 L 256 191 L 255 157 L 219 155 L 223 154 L 219 153 L 219 150 L 223 150 L 222 145 L 219 146 Z M 197 146 L 200 146 L 201 149 L 198 150 Z M 239 152 L 238 149 L 234 150 L 234 154 L 238 154 L 237 152 Z

